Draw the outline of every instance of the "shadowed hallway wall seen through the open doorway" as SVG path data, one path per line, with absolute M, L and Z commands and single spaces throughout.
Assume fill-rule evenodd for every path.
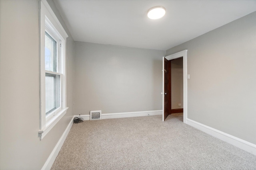
M 171 61 L 172 109 L 183 108 L 183 60 Z M 178 106 L 181 104 L 181 106 Z

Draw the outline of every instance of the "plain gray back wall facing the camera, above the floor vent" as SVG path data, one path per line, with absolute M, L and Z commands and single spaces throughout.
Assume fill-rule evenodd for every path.
M 75 42 L 75 111 L 162 109 L 165 51 Z

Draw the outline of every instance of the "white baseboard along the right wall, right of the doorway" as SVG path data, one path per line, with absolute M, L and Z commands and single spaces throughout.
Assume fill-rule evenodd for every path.
M 232 135 L 229 135 L 227 133 L 224 133 L 222 131 L 219 131 L 217 129 L 214 129 L 212 127 L 206 126 L 202 123 L 198 123 L 196 121 L 193 121 L 191 119 L 187 118 L 187 124 L 195 127 L 196 129 L 199 129 L 205 133 L 208 133 L 209 135 L 212 135 L 213 137 L 216 137 L 222 141 L 225 141 L 227 143 L 230 143 L 231 145 L 234 145 L 242 150 L 245 150 L 247 152 L 250 152 L 254 155 L 256 155 L 256 145 L 247 141 L 244 141 L 243 139 L 240 139 L 238 137 L 234 137 Z

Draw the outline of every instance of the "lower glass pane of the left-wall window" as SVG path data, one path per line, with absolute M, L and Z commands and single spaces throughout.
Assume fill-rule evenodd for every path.
M 45 75 L 46 115 L 60 107 L 60 76 Z

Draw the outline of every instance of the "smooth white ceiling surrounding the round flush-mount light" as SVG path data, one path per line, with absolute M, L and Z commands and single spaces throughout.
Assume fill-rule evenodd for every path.
M 54 0 L 74 41 L 167 50 L 256 11 L 256 0 Z M 164 6 L 166 15 L 146 13 Z

